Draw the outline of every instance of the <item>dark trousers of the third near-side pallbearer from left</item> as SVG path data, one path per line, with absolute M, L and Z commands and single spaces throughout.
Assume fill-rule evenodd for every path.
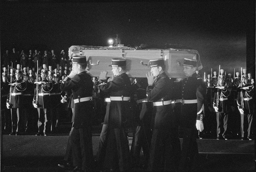
M 176 128 L 169 130 L 154 129 L 150 146 L 148 171 L 176 171 L 179 159 L 180 139 L 178 137 L 178 130 Z M 162 167 L 164 169 L 161 169 Z

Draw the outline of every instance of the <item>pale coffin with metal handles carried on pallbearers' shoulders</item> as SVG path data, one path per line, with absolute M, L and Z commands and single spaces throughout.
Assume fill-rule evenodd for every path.
M 197 59 L 199 54 L 190 49 L 143 49 L 130 47 L 95 47 L 71 46 L 69 56 L 86 56 L 86 71 L 92 77 L 98 77 L 100 71 L 108 71 L 107 77 L 112 76 L 109 67 L 112 58 L 125 58 L 126 70 L 129 77 L 146 77 L 150 71 L 147 66 L 150 59 L 164 58 L 165 72 L 170 78 L 186 78 L 183 72 L 184 58 Z

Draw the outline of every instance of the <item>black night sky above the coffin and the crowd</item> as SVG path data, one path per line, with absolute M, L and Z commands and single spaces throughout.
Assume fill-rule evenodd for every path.
M 126 45 L 175 46 L 199 52 L 204 71 L 246 67 L 246 34 L 255 20 L 254 1 L 2 3 L 1 55 L 5 49 Z M 255 22 L 254 22 L 255 25 Z M 247 34 L 248 35 L 248 34 Z

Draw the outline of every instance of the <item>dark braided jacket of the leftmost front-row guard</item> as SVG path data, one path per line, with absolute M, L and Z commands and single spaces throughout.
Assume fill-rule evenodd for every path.
M 24 91 L 27 87 L 26 82 L 21 79 L 14 80 L 14 81 L 12 81 L 12 83 L 20 83 L 21 84 L 21 86 L 12 86 L 12 93 L 22 93 L 22 91 Z M 22 94 L 10 95 L 10 92 L 9 92 L 9 94 L 7 96 L 6 103 L 9 103 L 10 98 L 11 98 L 11 104 L 10 104 L 11 108 L 21 108 L 22 107 L 22 103 L 24 101 Z

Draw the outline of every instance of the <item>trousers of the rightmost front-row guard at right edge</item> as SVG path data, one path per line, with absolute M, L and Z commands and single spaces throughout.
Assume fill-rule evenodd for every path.
M 251 125 L 252 125 L 252 114 L 240 114 L 241 115 L 241 136 L 250 137 Z M 245 134 L 244 134 L 245 133 Z

